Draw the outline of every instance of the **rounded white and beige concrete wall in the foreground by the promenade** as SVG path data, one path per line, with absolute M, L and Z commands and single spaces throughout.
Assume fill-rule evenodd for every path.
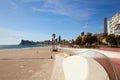
M 105 69 L 92 58 L 71 56 L 63 61 L 65 80 L 110 80 Z

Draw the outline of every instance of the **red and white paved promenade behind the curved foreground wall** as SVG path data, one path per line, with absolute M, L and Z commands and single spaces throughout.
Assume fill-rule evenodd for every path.
M 110 61 L 112 62 L 112 64 L 115 67 L 115 71 L 117 72 L 117 76 L 120 79 L 120 52 L 119 49 L 88 49 L 88 48 L 63 48 L 63 50 L 65 50 L 66 53 L 70 53 L 71 55 L 83 55 L 86 57 L 108 57 L 110 59 Z M 95 51 L 95 52 L 94 52 Z M 74 53 L 74 54 L 73 54 Z M 101 53 L 101 55 L 99 54 Z M 108 59 L 108 60 L 109 60 Z M 102 60 L 100 62 L 101 65 L 103 65 L 104 67 L 108 68 L 110 70 L 110 65 L 108 64 L 109 61 L 108 60 Z M 108 62 L 107 62 L 108 61 Z M 107 65 L 106 65 L 107 64 Z M 112 71 L 113 72 L 113 71 Z M 111 72 L 109 72 L 111 74 Z

